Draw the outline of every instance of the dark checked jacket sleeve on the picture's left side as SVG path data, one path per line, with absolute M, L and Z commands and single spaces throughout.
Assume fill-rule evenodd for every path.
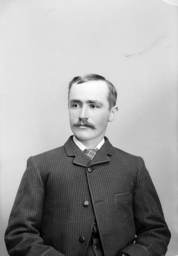
M 34 157 L 27 161 L 5 233 L 10 256 L 63 256 L 40 237 L 45 187 Z

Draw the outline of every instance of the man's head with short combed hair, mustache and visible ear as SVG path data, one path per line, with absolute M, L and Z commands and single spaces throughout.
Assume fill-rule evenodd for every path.
M 103 76 L 77 76 L 69 83 L 71 129 L 84 145 L 97 145 L 117 113 L 115 87 Z

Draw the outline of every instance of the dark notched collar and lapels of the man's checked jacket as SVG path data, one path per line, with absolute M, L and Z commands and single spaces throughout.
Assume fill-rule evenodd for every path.
M 83 153 L 83 151 L 78 148 L 78 146 L 75 144 L 75 142 L 72 139 L 72 136 L 69 137 L 67 142 L 64 144 L 64 148 L 66 151 L 66 154 L 69 157 L 74 157 L 73 163 L 78 164 L 80 166 L 89 167 L 98 163 L 106 163 L 109 161 L 108 155 L 112 155 L 112 145 L 109 142 L 108 138 L 105 137 L 105 143 L 102 145 L 100 150 L 98 150 L 95 157 L 90 160 L 89 157 L 87 157 L 86 154 Z

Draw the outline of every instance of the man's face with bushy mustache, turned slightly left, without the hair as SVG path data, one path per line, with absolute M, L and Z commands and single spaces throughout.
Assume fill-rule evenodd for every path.
M 72 132 L 80 141 L 102 140 L 112 110 L 107 100 L 105 81 L 72 84 L 69 92 L 69 121 Z

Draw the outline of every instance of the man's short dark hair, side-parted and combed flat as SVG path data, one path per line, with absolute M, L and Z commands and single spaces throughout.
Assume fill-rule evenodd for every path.
M 109 110 L 113 108 L 116 105 L 117 101 L 117 90 L 115 86 L 106 80 L 103 76 L 99 76 L 96 74 L 86 74 L 84 76 L 75 76 L 69 83 L 69 92 L 72 87 L 72 84 L 77 83 L 77 84 L 82 84 L 88 81 L 105 81 L 107 86 L 108 86 L 108 95 L 107 95 L 107 100 L 109 102 Z M 68 92 L 68 99 L 69 99 L 69 92 Z

